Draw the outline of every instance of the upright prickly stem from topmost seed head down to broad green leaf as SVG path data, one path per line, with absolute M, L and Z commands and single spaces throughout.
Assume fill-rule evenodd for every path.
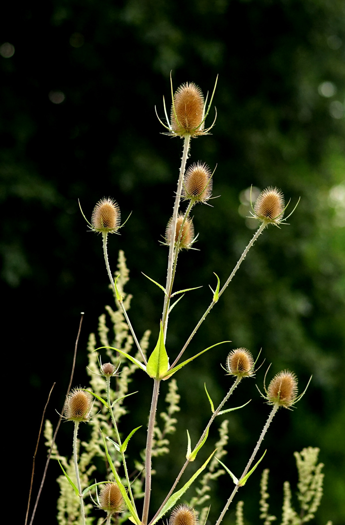
M 178 249 L 175 250 L 176 225 L 177 225 L 178 210 L 180 207 L 182 185 L 184 181 L 184 174 L 185 174 L 186 163 L 188 159 L 189 145 L 190 145 L 190 135 L 187 134 L 185 135 L 185 138 L 184 138 L 184 149 L 182 152 L 180 175 L 179 175 L 178 184 L 177 184 L 174 212 L 172 213 L 171 236 L 170 236 L 169 256 L 168 256 L 168 271 L 167 271 L 167 281 L 166 281 L 166 286 L 165 286 L 165 289 L 168 295 L 164 297 L 164 307 L 163 307 L 163 313 L 162 313 L 164 340 L 166 338 L 166 333 L 167 333 L 168 312 L 169 312 L 170 293 L 171 293 L 171 292 L 168 293 L 168 290 L 171 290 L 172 288 L 172 272 L 174 268 L 174 261 L 176 265 L 177 253 L 178 253 Z M 176 254 L 175 254 L 175 251 L 176 251 Z

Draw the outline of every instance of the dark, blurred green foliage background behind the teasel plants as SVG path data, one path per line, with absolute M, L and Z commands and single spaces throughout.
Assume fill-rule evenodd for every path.
M 177 286 L 204 287 L 174 310 L 167 348 L 176 355 L 210 301 L 212 272 L 224 282 L 252 235 L 245 219 L 246 188 L 276 185 L 293 203 L 301 196 L 290 226 L 270 228 L 257 241 L 190 351 L 205 348 L 205 341 L 231 339 L 232 348 L 247 346 L 254 354 L 262 347 L 266 361 L 273 362 L 272 373 L 288 367 L 301 386 L 313 374 L 294 413 L 277 416 L 266 439 L 264 467 L 271 468 L 277 487 L 272 504 L 279 508 L 279 487 L 295 476 L 293 451 L 320 447 L 326 481 L 317 523 L 332 519 L 340 525 L 345 518 L 343 2 L 55 0 L 6 8 L 2 38 L 15 53 L 0 48 L 1 276 L 5 350 L 20 357 L 26 372 L 20 381 L 30 392 L 17 445 L 25 472 L 53 381 L 51 413 L 63 403 L 79 312 L 86 314 L 75 380 L 83 384 L 88 333 L 96 330 L 103 304 L 112 301 L 101 238 L 87 234 L 77 199 L 88 215 L 104 195 L 117 199 L 124 217 L 133 210 L 121 237 L 111 239 L 110 256 L 115 269 L 117 250 L 124 249 L 131 269 L 127 291 L 134 295 L 131 319 L 139 334 L 153 331 L 154 344 L 163 298 L 141 271 L 165 279 L 167 250 L 158 240 L 171 214 L 181 152 L 180 140 L 159 134 L 154 106 L 162 115 L 170 70 L 175 87 L 194 81 L 203 92 L 219 74 L 217 124 L 211 137 L 192 141 L 191 161 L 212 168 L 218 163 L 214 195 L 221 197 L 213 209 L 195 209 L 200 251 L 182 254 L 178 264 Z M 216 399 L 227 387 L 219 366 L 226 353 L 217 347 L 177 378 L 184 413 L 171 464 L 156 465 L 158 501 L 167 471 L 181 461 L 186 426 L 196 439 L 207 421 L 203 383 Z M 137 424 L 145 424 L 150 394 L 146 383 L 133 386 L 143 388 L 140 405 L 137 400 L 131 408 Z M 254 382 L 246 386 L 251 409 L 247 417 L 242 411 L 230 418 L 228 458 L 235 472 L 267 413 Z M 64 425 L 60 439 L 69 431 Z M 50 520 L 57 472 L 52 466 L 40 506 L 40 515 L 47 511 Z M 243 491 L 251 523 L 257 522 L 251 490 L 258 491 L 258 477 Z M 229 490 L 224 485 L 221 501 Z

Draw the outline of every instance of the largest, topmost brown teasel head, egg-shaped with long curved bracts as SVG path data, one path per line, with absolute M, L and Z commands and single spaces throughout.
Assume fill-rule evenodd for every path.
M 174 107 L 171 107 L 170 127 L 174 134 L 180 137 L 187 134 L 191 137 L 202 135 L 203 112 L 204 99 L 201 89 L 194 82 L 182 84 L 174 93 Z

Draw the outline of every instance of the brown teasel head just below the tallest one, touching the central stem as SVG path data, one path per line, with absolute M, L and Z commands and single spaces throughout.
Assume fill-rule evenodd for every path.
M 189 166 L 185 173 L 182 197 L 194 202 L 206 203 L 212 194 L 212 172 L 205 163 Z

